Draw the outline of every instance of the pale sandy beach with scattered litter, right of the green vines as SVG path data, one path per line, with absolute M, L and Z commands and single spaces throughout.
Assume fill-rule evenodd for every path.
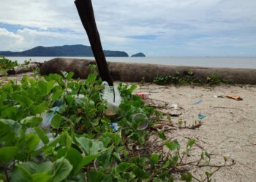
M 170 140 L 177 139 L 186 144 L 189 138 L 197 142 L 191 158 L 208 151 L 215 164 L 223 164 L 223 157 L 235 159 L 236 165 L 225 167 L 214 175 L 214 181 L 255 181 L 256 178 L 256 86 L 226 85 L 215 87 L 159 86 L 138 84 L 138 92 L 149 92 L 150 99 L 159 111 L 170 114 L 172 104 L 178 103 L 180 116 L 173 116 L 171 122 L 178 125 L 183 119 L 187 125 L 195 123 L 198 114 L 206 116 L 196 129 L 165 130 Z M 243 100 L 221 98 L 221 95 L 240 95 Z M 165 109 L 165 106 L 167 109 Z M 197 151 L 197 152 L 196 152 Z M 200 176 L 209 168 L 192 169 Z

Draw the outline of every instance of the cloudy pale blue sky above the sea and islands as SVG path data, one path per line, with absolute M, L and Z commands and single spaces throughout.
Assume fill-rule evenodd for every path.
M 104 50 L 255 56 L 255 0 L 91 0 Z M 1 0 L 0 50 L 89 45 L 73 0 Z

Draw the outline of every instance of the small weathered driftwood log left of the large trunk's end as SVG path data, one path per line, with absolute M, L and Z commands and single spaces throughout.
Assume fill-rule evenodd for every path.
M 7 74 L 22 74 L 26 72 L 33 71 L 35 68 L 40 68 L 42 63 L 31 62 L 25 66 L 15 66 L 14 68 L 7 71 Z

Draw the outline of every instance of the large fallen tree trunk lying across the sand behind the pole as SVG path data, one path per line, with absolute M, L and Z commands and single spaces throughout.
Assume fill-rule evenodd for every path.
M 74 72 L 75 77 L 85 79 L 89 74 L 89 65 L 94 60 L 55 58 L 43 63 L 40 74 L 60 74 L 61 71 Z M 109 62 L 108 67 L 114 80 L 121 82 L 153 82 L 156 76 L 174 75 L 176 71 L 182 74 L 192 71 L 194 76 L 202 81 L 207 76 L 218 74 L 223 79 L 233 79 L 236 84 L 256 84 L 256 69 L 247 68 L 201 68 L 191 66 L 165 66 L 140 63 Z

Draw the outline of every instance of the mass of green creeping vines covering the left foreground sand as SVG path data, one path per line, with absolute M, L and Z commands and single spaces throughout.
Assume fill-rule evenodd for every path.
M 151 128 L 137 130 L 140 121 L 132 121 L 132 114 L 146 114 L 151 125 L 161 114 L 132 95 L 135 85 L 119 85 L 123 102 L 118 114 L 108 117 L 95 71 L 83 81 L 63 74 L 64 79 L 57 74 L 24 76 L 20 84 L 1 86 L 0 181 L 211 181 L 220 167 L 229 166 L 226 158 L 224 165 L 211 165 L 206 151 L 196 162 L 185 162 L 195 141 L 181 150 L 163 131 L 156 136 L 167 154 L 151 149 Z M 50 114 L 50 127 L 42 127 Z M 117 132 L 110 122 L 118 122 Z M 184 168 L 193 166 L 217 170 L 199 179 Z

